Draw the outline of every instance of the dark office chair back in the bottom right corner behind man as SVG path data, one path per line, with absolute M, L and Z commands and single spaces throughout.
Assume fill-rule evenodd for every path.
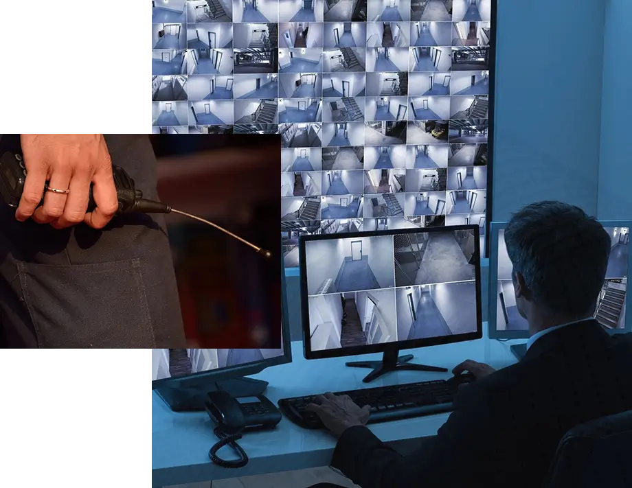
M 569 430 L 560 441 L 546 488 L 632 487 L 632 410 Z

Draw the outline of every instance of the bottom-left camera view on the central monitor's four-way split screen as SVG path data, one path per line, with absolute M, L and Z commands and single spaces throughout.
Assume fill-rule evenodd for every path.
M 325 294 L 308 299 L 313 351 L 394 342 L 394 290 Z

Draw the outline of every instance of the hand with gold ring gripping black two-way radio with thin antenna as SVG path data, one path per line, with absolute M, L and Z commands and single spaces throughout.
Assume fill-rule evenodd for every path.
M 80 134 L 67 135 L 69 139 L 64 139 L 63 134 L 31 136 L 33 139 L 29 139 L 29 135 L 5 132 L 0 138 L 0 199 L 9 207 L 17 208 L 17 220 L 32 217 L 36 222 L 49 222 L 57 229 L 85 222 L 101 229 L 113 216 L 124 213 L 179 213 L 212 226 L 265 259 L 271 259 L 270 251 L 214 222 L 143 198 L 142 190 L 136 189 L 131 176 L 111 163 L 102 135 L 90 134 L 91 139 L 82 139 Z M 32 143 L 30 150 L 23 150 L 24 141 L 26 145 Z M 23 154 L 28 154 L 27 161 Z M 82 158 L 87 158 L 87 163 L 82 163 Z M 51 200 L 51 194 L 64 198 Z

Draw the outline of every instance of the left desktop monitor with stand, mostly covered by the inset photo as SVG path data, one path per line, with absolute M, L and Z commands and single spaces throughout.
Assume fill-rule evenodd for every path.
M 292 360 L 284 272 L 281 280 L 279 348 L 152 349 L 149 388 L 176 412 L 204 410 L 205 396 L 217 389 L 236 398 L 261 395 L 267 382 L 247 376 Z

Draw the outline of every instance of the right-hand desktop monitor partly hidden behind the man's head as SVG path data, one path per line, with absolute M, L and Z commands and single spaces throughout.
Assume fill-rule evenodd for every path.
M 609 332 L 632 330 L 632 309 L 627 306 L 627 279 L 632 272 L 629 259 L 632 220 L 600 221 L 612 241 L 606 279 L 598 298 L 594 317 Z M 505 246 L 507 222 L 491 222 L 489 259 L 489 337 L 493 339 L 527 339 L 528 324 L 516 307 L 511 278 L 512 265 Z M 523 345 L 512 346 L 517 356 L 525 352 Z

